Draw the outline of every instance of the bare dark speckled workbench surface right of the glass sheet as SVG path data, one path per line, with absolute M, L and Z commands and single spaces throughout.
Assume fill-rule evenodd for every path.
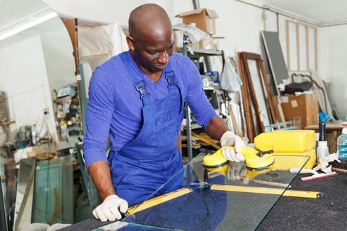
M 347 163 L 340 167 L 346 169 Z M 323 192 L 317 199 L 282 196 L 271 209 L 257 231 L 271 230 L 347 230 L 347 174 L 337 171 L 337 176 L 303 182 L 300 174 L 291 188 Z

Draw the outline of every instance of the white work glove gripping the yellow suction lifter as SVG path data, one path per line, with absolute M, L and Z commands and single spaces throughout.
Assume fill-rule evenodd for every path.
M 234 146 L 234 148 L 224 148 L 222 150 L 222 154 L 227 160 L 235 162 L 244 161 L 244 155 L 241 154 L 241 149 L 245 147 L 246 144 L 241 137 L 228 130 L 221 136 L 220 142 L 222 147 Z

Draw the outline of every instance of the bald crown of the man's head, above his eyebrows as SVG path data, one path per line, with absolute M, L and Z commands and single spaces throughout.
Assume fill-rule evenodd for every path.
M 167 12 L 160 6 L 149 3 L 135 8 L 129 16 L 129 34 L 134 37 L 143 35 L 162 35 L 172 30 Z

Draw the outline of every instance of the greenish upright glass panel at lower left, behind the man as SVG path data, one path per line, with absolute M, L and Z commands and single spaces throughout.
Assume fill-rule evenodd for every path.
M 73 161 L 67 155 L 36 163 L 33 223 L 74 223 Z

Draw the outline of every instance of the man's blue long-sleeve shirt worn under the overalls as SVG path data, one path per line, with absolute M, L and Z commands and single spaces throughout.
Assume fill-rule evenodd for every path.
M 169 95 L 167 79 L 164 76 L 154 83 L 139 70 L 131 58 L 130 60 L 135 74 L 145 81 L 146 89 L 153 101 Z M 217 114 L 203 91 L 198 69 L 188 57 L 176 53 L 171 56 L 169 62 L 175 72 L 176 80 L 180 82 L 183 99 L 191 108 L 196 121 L 205 128 L 210 119 Z M 133 78 L 129 76 L 118 55 L 96 67 L 90 80 L 83 139 L 86 166 L 99 160 L 107 162 L 105 147 L 108 136 L 113 151 L 119 151 L 124 144 L 135 139 L 142 128 L 142 106 Z

